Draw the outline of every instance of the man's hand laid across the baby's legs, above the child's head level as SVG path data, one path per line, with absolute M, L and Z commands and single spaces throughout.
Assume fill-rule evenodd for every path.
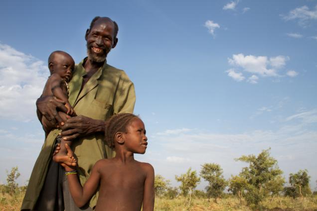
M 67 116 L 67 118 L 65 124 L 61 127 L 63 129 L 61 136 L 66 141 L 71 141 L 95 132 L 105 131 L 105 122 L 103 120 L 92 119 L 83 115 Z

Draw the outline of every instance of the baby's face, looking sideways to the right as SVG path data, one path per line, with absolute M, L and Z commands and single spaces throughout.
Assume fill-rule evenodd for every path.
M 72 78 L 74 67 L 75 62 L 70 56 L 59 54 L 56 55 L 53 73 L 57 73 L 66 82 L 69 82 Z

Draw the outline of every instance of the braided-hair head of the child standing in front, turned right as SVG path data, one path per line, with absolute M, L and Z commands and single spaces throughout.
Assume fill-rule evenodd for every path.
M 125 145 L 134 153 L 144 154 L 148 138 L 143 121 L 132 113 L 119 113 L 106 121 L 105 139 L 110 148 Z

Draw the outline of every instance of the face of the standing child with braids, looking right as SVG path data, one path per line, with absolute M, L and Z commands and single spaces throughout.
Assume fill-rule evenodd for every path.
M 138 154 L 144 154 L 148 138 L 143 121 L 140 118 L 135 118 L 128 126 L 125 133 L 125 145 L 128 151 Z

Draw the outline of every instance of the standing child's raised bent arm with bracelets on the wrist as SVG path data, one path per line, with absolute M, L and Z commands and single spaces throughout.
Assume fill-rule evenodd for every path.
M 72 154 L 72 150 L 67 144 L 65 144 L 67 149 L 67 154 Z M 70 153 L 71 152 L 71 153 Z M 74 166 L 67 166 L 64 163 L 61 164 L 65 167 L 65 171 L 74 171 Z M 76 174 L 67 175 L 69 192 L 72 195 L 72 198 L 78 208 L 83 207 L 90 200 L 93 194 L 96 192 L 99 182 L 100 182 L 100 173 L 99 173 L 100 162 L 96 162 L 92 168 L 90 177 L 87 182 L 84 184 L 84 187 L 81 186 L 79 179 Z

